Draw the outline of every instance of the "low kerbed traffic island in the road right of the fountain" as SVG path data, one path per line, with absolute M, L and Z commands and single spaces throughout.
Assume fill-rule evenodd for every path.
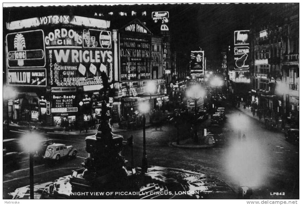
M 205 143 L 207 142 L 207 143 Z M 193 138 L 188 138 L 184 140 L 179 140 L 179 145 L 177 142 L 172 142 L 170 145 L 174 147 L 180 147 L 180 148 L 194 148 L 194 149 L 205 149 L 205 148 L 211 148 L 215 146 L 215 142 L 208 143 L 208 138 L 198 138 L 198 143 L 194 142 Z

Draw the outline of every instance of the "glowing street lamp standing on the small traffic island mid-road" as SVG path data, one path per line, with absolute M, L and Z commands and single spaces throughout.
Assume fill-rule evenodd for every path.
M 204 89 L 199 85 L 195 84 L 192 85 L 191 88 L 187 90 L 187 97 L 194 100 L 195 104 L 195 138 L 194 142 L 198 143 L 198 136 L 197 136 L 197 101 L 204 97 Z

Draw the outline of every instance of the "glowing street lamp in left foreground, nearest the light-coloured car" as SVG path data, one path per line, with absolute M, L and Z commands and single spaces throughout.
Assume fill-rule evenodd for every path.
M 34 152 L 40 146 L 40 135 L 35 132 L 28 132 L 22 136 L 20 142 L 24 151 L 29 153 L 29 188 L 30 199 L 34 199 Z

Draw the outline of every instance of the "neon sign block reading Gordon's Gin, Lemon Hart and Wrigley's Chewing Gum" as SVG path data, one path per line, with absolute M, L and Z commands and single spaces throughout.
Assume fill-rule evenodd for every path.
M 51 85 L 102 84 L 103 71 L 109 81 L 112 80 L 110 31 L 60 28 L 46 33 L 45 36 Z

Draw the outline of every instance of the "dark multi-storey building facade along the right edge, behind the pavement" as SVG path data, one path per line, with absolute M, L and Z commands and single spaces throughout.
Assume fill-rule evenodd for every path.
M 280 12 L 277 12 L 280 11 Z M 283 4 L 262 21 L 251 21 L 251 102 L 272 117 L 299 119 L 298 5 Z

